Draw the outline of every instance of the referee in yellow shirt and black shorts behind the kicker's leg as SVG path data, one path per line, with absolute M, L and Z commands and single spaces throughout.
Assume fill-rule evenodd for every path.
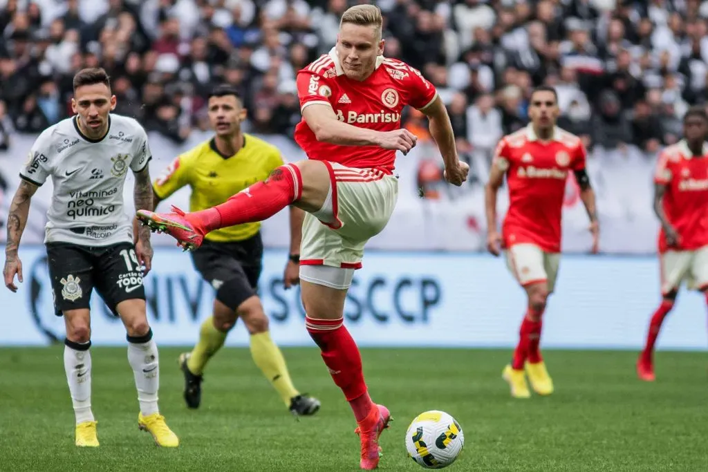
M 246 110 L 239 94 L 219 86 L 209 96 L 209 121 L 215 136 L 178 156 L 153 183 L 154 205 L 185 185 L 192 188 L 189 211 L 219 205 L 249 185 L 265 180 L 283 161 L 278 149 L 241 132 Z M 290 207 L 290 259 L 285 267 L 285 287 L 299 282 L 299 247 L 304 213 Z M 270 339 L 268 317 L 256 294 L 263 263 L 261 223 L 217 229 L 205 236 L 191 254 L 202 277 L 216 289 L 213 316 L 202 324 L 199 342 L 184 352 L 179 363 L 184 373 L 184 399 L 198 408 L 202 373 L 210 357 L 224 345 L 227 333 L 241 318 L 251 335 L 253 362 L 273 384 L 294 415 L 312 415 L 319 400 L 299 393 L 292 385 L 278 346 Z

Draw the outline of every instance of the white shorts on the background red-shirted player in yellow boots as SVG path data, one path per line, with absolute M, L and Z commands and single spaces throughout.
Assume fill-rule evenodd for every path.
M 556 286 L 560 253 L 547 253 L 532 243 L 519 243 L 505 252 L 506 265 L 522 287 L 546 282 L 548 293 Z

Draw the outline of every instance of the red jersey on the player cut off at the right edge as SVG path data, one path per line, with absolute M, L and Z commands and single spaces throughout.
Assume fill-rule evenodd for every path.
M 708 144 L 703 156 L 693 156 L 685 141 L 668 146 L 659 155 L 654 182 L 666 185 L 663 210 L 678 233 L 680 250 L 708 245 Z M 666 235 L 659 231 L 659 252 L 668 251 Z

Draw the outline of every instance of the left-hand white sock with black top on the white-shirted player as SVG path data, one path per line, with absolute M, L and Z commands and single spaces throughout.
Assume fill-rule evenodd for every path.
M 91 341 L 84 344 L 64 340 L 64 371 L 72 394 L 76 424 L 93 421 L 91 411 Z

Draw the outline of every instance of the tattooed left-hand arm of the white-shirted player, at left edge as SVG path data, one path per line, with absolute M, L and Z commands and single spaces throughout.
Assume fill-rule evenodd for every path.
M 17 292 L 15 284 L 15 275 L 22 282 L 22 261 L 18 256 L 18 248 L 20 247 L 20 239 L 25 231 L 27 217 L 30 214 L 30 200 L 38 186 L 29 183 L 27 180 L 22 180 L 20 186 L 15 192 L 10 204 L 10 212 L 7 217 L 7 243 L 5 245 L 5 266 L 2 274 L 5 279 L 5 287 L 12 292 Z

